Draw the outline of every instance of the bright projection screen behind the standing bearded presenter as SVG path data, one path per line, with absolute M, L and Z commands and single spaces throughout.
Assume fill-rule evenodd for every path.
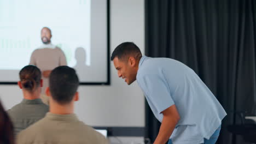
M 65 53 L 80 82 L 107 81 L 107 2 L 0 0 L 0 82 L 18 81 L 19 70 L 43 45 L 40 30 Z

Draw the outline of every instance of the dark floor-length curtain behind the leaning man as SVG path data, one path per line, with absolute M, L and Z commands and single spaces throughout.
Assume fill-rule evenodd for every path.
M 256 114 L 256 1 L 145 2 L 146 56 L 177 59 L 194 69 L 228 113 L 218 143 L 246 143 L 226 126 L 240 123 L 234 111 Z M 146 103 L 146 137 L 154 141 L 159 127 Z

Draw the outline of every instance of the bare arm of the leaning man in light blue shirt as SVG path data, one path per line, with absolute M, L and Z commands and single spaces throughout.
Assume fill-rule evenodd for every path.
M 162 118 L 161 127 L 154 144 L 166 143 L 170 139 L 170 136 L 179 121 L 179 113 L 175 105 L 168 107 L 161 113 L 164 115 L 164 118 Z

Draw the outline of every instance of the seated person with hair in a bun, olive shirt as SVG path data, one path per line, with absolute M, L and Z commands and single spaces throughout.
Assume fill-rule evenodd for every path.
M 22 89 L 24 99 L 8 110 L 15 135 L 43 118 L 49 111 L 49 106 L 40 99 L 43 85 L 40 70 L 34 65 L 27 65 L 20 70 L 19 75 L 18 85 Z

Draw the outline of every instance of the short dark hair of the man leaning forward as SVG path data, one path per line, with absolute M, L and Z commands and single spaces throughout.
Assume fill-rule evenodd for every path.
M 115 57 L 125 60 L 128 56 L 133 56 L 136 59 L 140 59 L 142 57 L 141 50 L 139 50 L 138 46 L 132 42 L 125 42 L 118 45 L 112 53 L 111 61 L 113 61 Z

